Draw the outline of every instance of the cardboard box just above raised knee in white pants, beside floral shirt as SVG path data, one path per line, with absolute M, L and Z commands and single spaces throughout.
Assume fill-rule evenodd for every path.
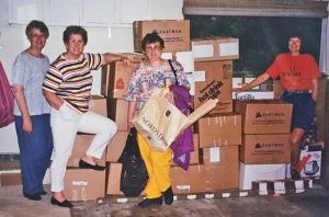
M 107 99 L 107 114 L 109 118 L 117 125 L 117 130 L 126 132 L 127 130 L 127 111 L 128 102 L 121 99 Z

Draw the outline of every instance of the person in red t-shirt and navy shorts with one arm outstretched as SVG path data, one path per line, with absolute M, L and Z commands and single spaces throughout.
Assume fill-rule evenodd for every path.
M 283 101 L 293 104 L 292 134 L 291 134 L 291 174 L 294 180 L 300 179 L 298 161 L 299 141 L 309 130 L 316 108 L 318 94 L 318 79 L 320 70 L 315 58 L 309 54 L 300 54 L 302 41 L 293 36 L 288 41 L 290 53 L 279 54 L 270 68 L 261 76 L 242 88 L 234 89 L 234 92 L 243 92 L 263 83 L 270 78 L 280 77 L 284 92 Z

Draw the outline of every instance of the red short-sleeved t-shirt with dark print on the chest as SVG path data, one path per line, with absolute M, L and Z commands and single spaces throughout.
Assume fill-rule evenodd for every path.
M 272 79 L 280 77 L 285 90 L 313 90 L 311 80 L 320 77 L 315 58 L 308 54 L 280 54 L 265 73 Z

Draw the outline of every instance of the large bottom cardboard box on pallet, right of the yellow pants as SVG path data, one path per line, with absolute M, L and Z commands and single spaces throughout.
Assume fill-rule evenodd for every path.
M 215 163 L 190 165 L 188 171 L 172 167 L 170 172 L 174 194 L 238 189 L 238 146 L 220 147 Z

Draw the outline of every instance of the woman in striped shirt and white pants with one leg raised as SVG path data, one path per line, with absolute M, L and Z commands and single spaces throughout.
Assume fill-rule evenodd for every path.
M 109 140 L 116 133 L 116 124 L 88 111 L 92 85 L 91 70 L 114 61 L 131 64 L 126 57 L 115 54 L 88 54 L 87 31 L 81 26 L 68 26 L 63 35 L 66 53 L 48 68 L 43 91 L 52 106 L 50 124 L 54 135 L 53 162 L 50 165 L 52 204 L 72 207 L 63 191 L 67 160 L 70 157 L 77 132 L 95 134 L 79 167 L 104 170 L 93 158 L 100 159 Z

